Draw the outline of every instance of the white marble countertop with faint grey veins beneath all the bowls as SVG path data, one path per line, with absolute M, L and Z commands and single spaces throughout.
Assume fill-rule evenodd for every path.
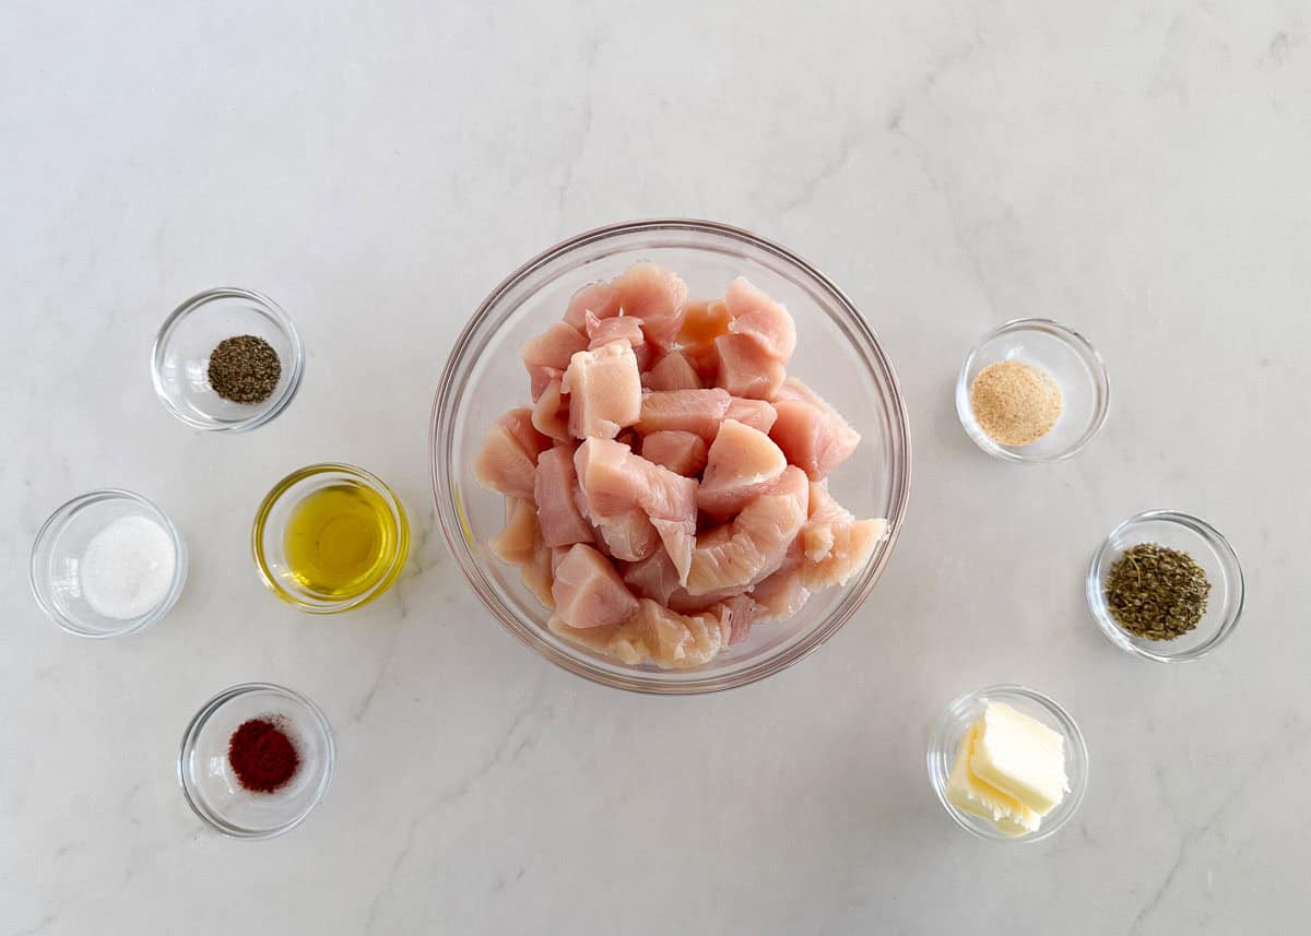
M 859 10 L 856 8 L 860 8 Z M 1297 0 L 797 5 L 123 0 L 0 9 L 0 933 L 1293 933 L 1306 927 L 1311 10 Z M 603 690 L 481 610 L 433 530 L 426 419 L 456 330 L 551 243 L 735 223 L 868 311 L 903 381 L 911 513 L 871 600 L 800 666 L 711 697 Z M 302 325 L 271 426 L 174 422 L 155 329 L 214 284 Z M 1045 315 L 1112 372 L 1072 461 L 977 451 L 973 340 Z M 273 599 L 256 503 L 357 461 L 417 527 L 338 619 Z M 28 551 L 106 485 L 184 528 L 174 612 L 90 642 Z M 1120 519 L 1234 543 L 1245 619 L 1189 666 L 1083 603 Z M 266 679 L 326 711 L 326 801 L 203 830 L 191 713 Z M 998 847 L 924 772 L 956 695 L 1023 682 L 1092 755 L 1074 822 Z

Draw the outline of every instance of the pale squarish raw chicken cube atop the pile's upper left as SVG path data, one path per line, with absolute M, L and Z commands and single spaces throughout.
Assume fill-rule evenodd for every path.
M 574 354 L 560 391 L 569 395 L 569 431 L 578 439 L 612 439 L 642 412 L 642 379 L 627 341 Z

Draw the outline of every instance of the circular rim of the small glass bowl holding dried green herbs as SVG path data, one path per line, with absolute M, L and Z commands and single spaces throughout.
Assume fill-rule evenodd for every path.
M 1114 541 L 1134 527 L 1154 522 L 1169 523 L 1192 531 L 1217 552 L 1226 570 L 1232 570 L 1234 573 L 1234 590 L 1236 591 L 1238 600 L 1234 604 L 1232 612 L 1221 621 L 1219 627 L 1215 628 L 1215 633 L 1197 646 L 1189 650 L 1180 650 L 1179 653 L 1156 653 L 1131 641 L 1124 628 L 1116 624 L 1110 616 L 1105 598 L 1101 594 L 1101 570 L 1116 549 L 1113 545 Z M 1096 552 L 1093 552 L 1092 561 L 1088 564 L 1088 574 L 1084 578 L 1084 595 L 1088 600 L 1088 611 L 1092 614 L 1092 619 L 1097 623 L 1097 628 L 1103 636 L 1125 653 L 1142 659 L 1150 659 L 1155 663 L 1190 663 L 1214 652 L 1238 628 L 1239 619 L 1243 616 L 1243 606 L 1247 602 L 1247 579 L 1243 574 L 1243 564 L 1239 561 L 1238 553 L 1224 534 L 1202 518 L 1183 510 L 1156 509 L 1134 514 L 1129 519 L 1121 520 L 1116 524 L 1114 530 L 1106 534 L 1106 537 L 1097 547 Z M 1163 644 L 1168 645 L 1169 641 L 1163 641 Z

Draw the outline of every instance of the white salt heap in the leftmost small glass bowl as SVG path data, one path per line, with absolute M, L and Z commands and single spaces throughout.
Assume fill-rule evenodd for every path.
M 100 615 L 128 620 L 160 606 L 173 585 L 173 539 L 148 517 L 119 517 L 83 552 L 83 598 Z

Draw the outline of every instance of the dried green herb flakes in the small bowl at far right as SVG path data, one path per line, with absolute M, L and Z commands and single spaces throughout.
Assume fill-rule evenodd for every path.
M 1106 607 L 1129 633 L 1173 640 L 1206 614 L 1211 583 L 1192 556 L 1158 543 L 1139 543 L 1110 566 Z

